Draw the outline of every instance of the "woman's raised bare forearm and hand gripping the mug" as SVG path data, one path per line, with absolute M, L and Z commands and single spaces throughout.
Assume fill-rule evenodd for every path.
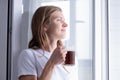
M 51 80 L 51 77 L 53 75 L 53 70 L 56 67 L 56 65 L 61 64 L 65 61 L 67 50 L 65 47 L 57 47 L 50 60 L 47 62 L 43 73 L 41 74 L 40 78 L 38 80 Z

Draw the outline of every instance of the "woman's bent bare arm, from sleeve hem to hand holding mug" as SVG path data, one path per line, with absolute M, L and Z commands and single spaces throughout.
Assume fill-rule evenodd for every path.
M 67 51 L 65 48 L 56 48 L 51 58 L 46 63 L 40 77 L 37 78 L 36 76 L 25 75 L 21 76 L 19 80 L 51 80 L 54 68 L 56 67 L 56 65 L 65 61 L 66 53 Z

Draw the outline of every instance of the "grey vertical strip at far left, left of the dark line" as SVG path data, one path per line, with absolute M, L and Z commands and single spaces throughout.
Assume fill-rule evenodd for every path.
M 6 80 L 8 0 L 0 0 L 0 79 Z

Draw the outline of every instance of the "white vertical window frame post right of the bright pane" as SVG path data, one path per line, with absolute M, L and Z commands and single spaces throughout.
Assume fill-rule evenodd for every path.
M 108 0 L 95 0 L 95 80 L 109 80 Z

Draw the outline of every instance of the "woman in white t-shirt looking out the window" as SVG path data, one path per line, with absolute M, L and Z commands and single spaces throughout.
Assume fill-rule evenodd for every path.
M 42 6 L 36 10 L 29 48 L 18 59 L 19 80 L 77 80 L 70 76 L 75 70 L 71 73 L 63 65 L 67 49 L 60 40 L 65 38 L 66 27 L 59 7 Z

